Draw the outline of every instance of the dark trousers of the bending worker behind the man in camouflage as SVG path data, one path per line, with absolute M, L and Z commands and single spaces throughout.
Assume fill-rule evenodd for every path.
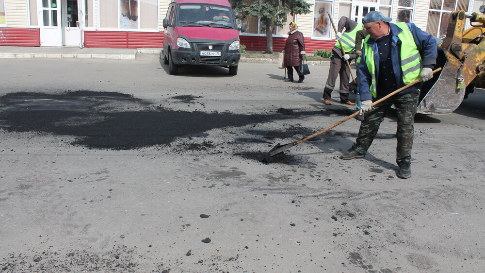
M 337 76 L 340 75 L 340 102 L 349 101 L 349 68 L 343 59 L 335 54 L 330 58 L 330 70 L 323 89 L 323 99 L 331 99 Z

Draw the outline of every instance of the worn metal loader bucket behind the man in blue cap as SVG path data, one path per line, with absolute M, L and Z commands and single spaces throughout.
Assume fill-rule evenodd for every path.
M 418 113 L 449 114 L 460 106 L 465 97 L 465 86 L 457 82 L 463 64 L 450 52 L 438 48 L 436 67 L 443 69 L 423 84 Z

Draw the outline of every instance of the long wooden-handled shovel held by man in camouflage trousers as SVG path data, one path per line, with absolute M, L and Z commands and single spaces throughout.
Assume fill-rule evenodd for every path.
M 436 72 L 438 72 L 439 70 L 441 70 L 441 68 L 436 68 L 436 69 L 433 71 L 433 74 L 435 74 L 435 73 L 436 73 Z M 410 86 L 412 86 L 412 85 L 415 85 L 415 84 L 419 83 L 420 81 L 421 81 L 421 79 L 417 79 L 416 81 L 414 81 L 414 82 L 412 82 L 412 83 L 410 83 L 410 84 L 408 84 L 408 85 L 405 85 L 405 86 L 403 86 L 403 87 L 401 87 L 401 88 L 397 89 L 396 91 L 393 91 L 392 93 L 388 94 L 388 95 L 387 95 L 387 96 L 385 96 L 384 98 L 382 98 L 382 99 L 380 99 L 380 100 L 377 100 L 377 101 L 375 101 L 375 102 L 372 102 L 372 104 L 371 104 L 371 105 L 372 105 L 372 106 L 375 106 L 375 105 L 377 105 L 378 103 L 380 103 L 380 102 L 383 102 L 383 101 L 387 100 L 387 99 L 388 99 L 388 98 L 390 98 L 391 96 L 394 96 L 395 94 L 397 94 L 397 93 L 399 93 L 399 92 L 403 91 L 404 89 L 406 89 L 406 88 L 408 88 L 408 87 L 410 87 Z M 300 144 L 300 143 L 302 143 L 302 142 L 304 142 L 304 141 L 307 141 L 307 140 L 308 140 L 308 139 L 310 139 L 310 138 L 313 138 L 313 137 L 315 137 L 315 136 L 321 135 L 321 134 L 325 133 L 326 131 L 328 131 L 328 130 L 330 130 L 330 129 L 332 129 L 332 128 L 334 128 L 334 127 L 336 127 L 336 126 L 340 125 L 340 124 L 342 124 L 343 122 L 345 122 L 345 121 L 347 121 L 347 120 L 349 120 L 349 119 L 352 119 L 353 117 L 357 116 L 358 114 L 359 114 L 359 111 L 355 112 L 354 114 L 352 114 L 352 115 L 348 116 L 347 118 L 342 119 L 342 120 L 340 120 L 339 122 L 337 122 L 337 123 L 335 123 L 335 124 L 333 124 L 333 125 L 331 125 L 331 126 L 329 126 L 329 127 L 325 128 L 325 129 L 323 129 L 323 130 L 322 130 L 322 131 L 320 131 L 320 132 L 317 132 L 317 133 L 315 133 L 315 134 L 313 134 L 313 135 L 311 135 L 311 136 L 307 136 L 307 137 L 305 137 L 305 138 L 303 138 L 303 139 L 300 139 L 300 140 L 298 140 L 298 141 L 293 141 L 293 142 L 291 142 L 291 143 L 284 144 L 284 145 L 280 145 L 280 144 L 278 143 L 278 144 L 276 144 L 276 146 L 275 146 L 273 149 L 271 149 L 271 150 L 270 150 L 268 153 L 266 153 L 266 154 L 264 155 L 264 161 L 265 161 L 266 163 L 270 163 L 270 162 L 273 160 L 273 156 L 275 156 L 276 154 L 282 153 L 283 151 L 288 150 L 288 149 L 290 149 L 291 147 L 293 147 L 293 146 L 295 146 L 295 145 L 298 145 L 298 144 Z

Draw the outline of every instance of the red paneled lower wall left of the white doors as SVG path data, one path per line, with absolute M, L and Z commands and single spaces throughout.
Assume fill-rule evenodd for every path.
M 0 28 L 0 46 L 38 47 L 39 29 Z

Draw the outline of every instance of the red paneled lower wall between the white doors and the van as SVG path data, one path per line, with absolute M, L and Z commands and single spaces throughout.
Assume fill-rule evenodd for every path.
M 162 48 L 163 32 L 85 31 L 87 48 Z

